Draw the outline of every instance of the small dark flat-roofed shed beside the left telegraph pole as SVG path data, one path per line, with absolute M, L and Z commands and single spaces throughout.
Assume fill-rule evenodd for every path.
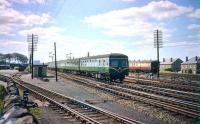
M 47 76 L 47 66 L 45 64 L 35 64 L 33 65 L 33 76 L 34 77 L 46 77 Z

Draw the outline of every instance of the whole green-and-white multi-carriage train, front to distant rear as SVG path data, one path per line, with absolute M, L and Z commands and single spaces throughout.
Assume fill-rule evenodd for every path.
M 49 62 L 48 67 L 54 69 L 54 62 Z M 61 72 L 70 72 L 108 81 L 122 81 L 125 76 L 128 76 L 129 72 L 128 56 L 119 53 L 61 60 L 57 62 L 57 67 Z

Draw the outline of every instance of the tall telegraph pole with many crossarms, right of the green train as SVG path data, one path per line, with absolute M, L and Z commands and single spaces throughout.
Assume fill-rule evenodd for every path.
M 162 48 L 162 47 L 163 47 L 162 31 L 157 29 L 154 31 L 154 48 L 157 49 L 157 61 L 158 61 L 157 78 L 160 77 L 159 48 Z

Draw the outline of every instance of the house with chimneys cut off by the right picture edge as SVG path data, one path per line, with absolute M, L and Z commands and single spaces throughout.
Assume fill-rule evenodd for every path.
M 181 72 L 186 74 L 200 74 L 200 57 L 195 56 L 181 64 Z

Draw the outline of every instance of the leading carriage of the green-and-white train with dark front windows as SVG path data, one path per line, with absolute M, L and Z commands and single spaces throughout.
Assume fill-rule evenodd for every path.
M 95 78 L 122 81 L 128 75 L 128 57 L 107 54 L 81 58 L 80 72 Z

